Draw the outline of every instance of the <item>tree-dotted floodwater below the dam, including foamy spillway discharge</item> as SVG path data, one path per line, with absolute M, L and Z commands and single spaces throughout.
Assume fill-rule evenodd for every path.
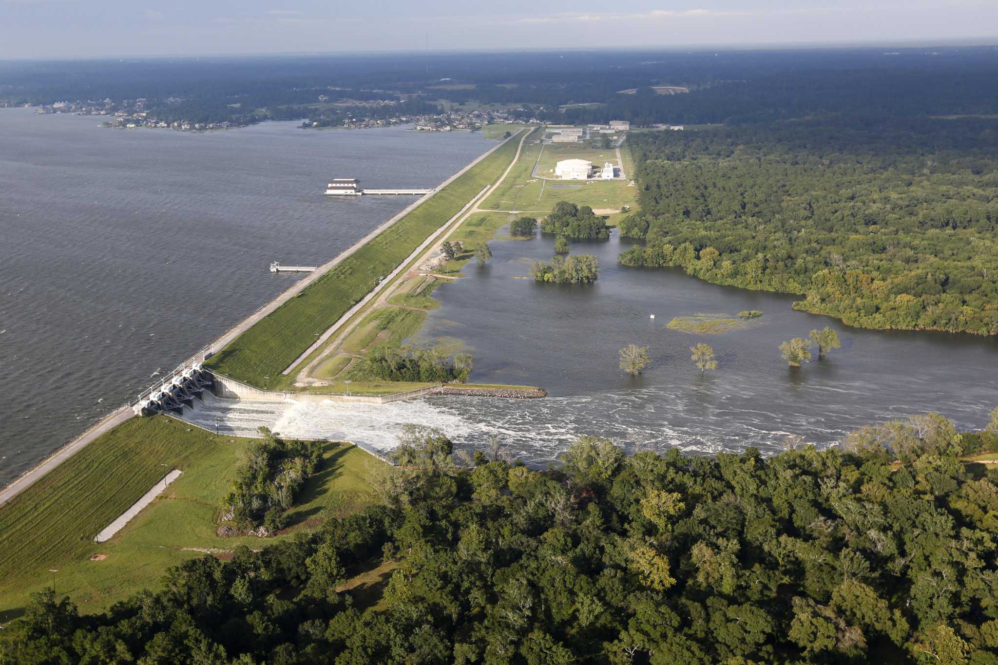
M 534 259 L 554 254 L 554 239 L 493 241 L 485 267 L 435 292 L 420 338 L 455 338 L 475 357 L 472 380 L 538 385 L 541 400 L 429 398 L 385 406 L 210 401 L 203 424 L 250 434 L 259 425 L 288 436 L 346 438 L 387 450 L 403 423 L 439 427 L 460 447 L 498 434 L 530 464 L 553 460 L 579 434 L 609 437 L 630 450 L 685 452 L 779 450 L 788 434 L 828 445 L 850 430 L 937 411 L 963 428 L 981 428 L 998 405 L 998 340 L 932 332 L 872 331 L 793 311 L 794 298 L 709 284 L 676 269 L 625 268 L 631 246 L 615 232 L 605 242 L 574 242 L 599 257 L 592 285 L 523 279 Z M 721 335 L 666 328 L 675 316 L 746 309 L 764 315 Z M 650 318 L 654 314 L 655 319 Z M 831 326 L 842 348 L 793 369 L 779 342 Z M 419 341 L 419 340 L 416 340 Z M 702 374 L 690 346 L 704 341 L 718 369 Z M 647 346 L 653 365 L 640 377 L 618 368 L 618 350 Z M 816 354 L 815 354 L 816 356 Z

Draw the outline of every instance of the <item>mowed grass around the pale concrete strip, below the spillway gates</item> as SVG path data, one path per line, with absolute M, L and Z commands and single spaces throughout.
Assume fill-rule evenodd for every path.
M 383 463 L 354 446 L 330 443 L 323 468 L 288 512 L 286 533 L 220 538 L 216 518 L 249 441 L 165 416 L 136 418 L 0 507 L 0 623 L 52 584 L 50 568 L 58 570 L 60 595 L 81 610 L 98 611 L 143 588 L 160 588 L 166 569 L 188 558 L 293 537 L 296 529 L 317 526 L 320 515 L 345 514 L 373 500 L 367 465 Z M 94 542 L 170 469 L 184 474 L 112 539 Z M 106 557 L 91 560 L 95 554 Z

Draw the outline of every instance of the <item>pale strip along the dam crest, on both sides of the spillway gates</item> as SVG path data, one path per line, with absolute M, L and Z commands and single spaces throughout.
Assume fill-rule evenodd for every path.
M 178 367 L 189 365 L 194 361 L 201 361 L 204 354 L 214 355 L 232 343 L 241 334 L 248 331 L 254 324 L 258 321 L 272 313 L 278 307 L 283 305 L 285 302 L 290 300 L 292 297 L 300 293 L 306 286 L 317 280 L 319 277 L 327 273 L 329 270 L 334 268 L 340 262 L 348 258 L 350 255 L 354 254 L 357 250 L 367 244 L 371 239 L 377 237 L 380 233 L 388 229 L 390 226 L 395 224 L 397 221 L 402 219 L 404 216 L 409 214 L 412 210 L 422 205 L 424 202 L 432 198 L 436 193 L 445 187 L 447 184 L 464 174 L 471 167 L 479 164 L 482 160 L 492 155 L 496 150 L 505 146 L 507 142 L 512 141 L 518 137 L 519 133 L 513 135 L 509 139 L 498 142 L 495 146 L 490 148 L 488 151 L 477 157 L 470 164 L 463 166 L 456 173 L 452 174 L 450 177 L 446 178 L 443 182 L 433 187 L 433 189 L 423 196 L 420 196 L 417 200 L 413 201 L 409 205 L 406 205 L 401 211 L 393 215 L 387 221 L 378 225 L 376 228 L 368 232 L 362 238 L 354 242 L 352 245 L 347 247 L 345 250 L 340 252 L 338 255 L 330 259 L 329 261 L 323 263 L 318 267 L 317 270 L 308 273 L 306 276 L 297 280 L 284 291 L 277 294 L 276 297 L 271 299 L 269 302 L 264 303 L 255 311 L 251 312 L 246 318 L 238 322 L 234 326 L 230 327 L 228 330 L 223 332 L 220 336 L 210 342 L 207 346 L 203 347 L 201 351 L 188 356 Z M 76 453 L 83 450 L 86 446 L 93 443 L 100 436 L 106 434 L 107 432 L 113 430 L 119 425 L 127 422 L 134 417 L 132 413 L 132 405 L 136 402 L 135 400 L 130 400 L 128 403 L 119 407 L 110 414 L 104 416 L 98 422 L 91 425 L 85 431 L 73 437 L 67 444 L 59 447 L 51 454 L 45 456 L 36 465 L 31 467 L 28 471 L 24 472 L 11 482 L 7 483 L 0 489 L 0 506 L 6 504 L 11 499 L 15 499 L 22 492 L 33 486 L 38 481 L 42 480 L 47 474 L 61 465 L 63 462 L 71 458 Z

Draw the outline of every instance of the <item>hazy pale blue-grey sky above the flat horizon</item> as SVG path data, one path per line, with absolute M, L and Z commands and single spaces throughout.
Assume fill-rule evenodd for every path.
M 0 0 L 0 59 L 994 41 L 998 0 Z

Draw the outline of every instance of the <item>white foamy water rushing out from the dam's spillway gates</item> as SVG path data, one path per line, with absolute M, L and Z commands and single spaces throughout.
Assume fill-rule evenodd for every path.
M 772 453 L 789 434 L 767 428 L 773 415 L 757 412 L 734 418 L 730 413 L 704 414 L 696 425 L 674 425 L 654 413 L 654 404 L 666 397 L 649 389 L 539 400 L 433 397 L 376 405 L 230 400 L 206 393 L 205 401 L 186 410 L 183 418 L 226 435 L 254 437 L 259 427 L 267 427 L 286 438 L 349 441 L 380 452 L 397 446 L 409 424 L 440 430 L 457 450 L 485 448 L 495 434 L 507 454 L 534 467 L 554 461 L 582 434 L 609 438 L 630 452 L 677 448 L 701 454 L 741 452 L 749 446 Z M 820 422 L 794 425 L 794 431 L 805 429 L 808 441 L 822 446 L 845 432 Z

